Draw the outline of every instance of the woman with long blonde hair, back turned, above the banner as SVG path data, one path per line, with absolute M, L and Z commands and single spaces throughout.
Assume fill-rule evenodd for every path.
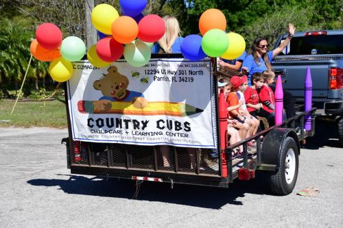
M 178 20 L 174 16 L 164 16 L 163 21 L 165 21 L 165 34 L 152 47 L 152 53 L 181 53 L 183 38 L 180 36 Z

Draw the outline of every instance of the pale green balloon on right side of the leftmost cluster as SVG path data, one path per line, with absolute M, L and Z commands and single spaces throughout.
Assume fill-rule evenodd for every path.
M 86 45 L 76 36 L 68 36 L 62 41 L 60 53 L 65 60 L 75 62 L 81 60 L 86 54 Z

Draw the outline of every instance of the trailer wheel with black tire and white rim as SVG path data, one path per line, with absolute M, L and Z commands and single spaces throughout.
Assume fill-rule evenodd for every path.
M 270 177 L 270 188 L 276 194 L 286 195 L 293 191 L 298 177 L 298 147 L 293 138 L 283 141 L 280 154 L 280 168 Z

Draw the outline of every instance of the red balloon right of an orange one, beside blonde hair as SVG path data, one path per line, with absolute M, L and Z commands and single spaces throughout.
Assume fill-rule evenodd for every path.
M 138 38 L 144 42 L 156 42 L 165 34 L 165 21 L 160 16 L 144 16 L 138 24 Z

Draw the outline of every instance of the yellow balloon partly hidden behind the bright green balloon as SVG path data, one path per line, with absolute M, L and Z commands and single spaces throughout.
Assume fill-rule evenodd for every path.
M 243 54 L 245 49 L 246 41 L 244 38 L 239 34 L 229 32 L 228 49 L 226 49 L 225 53 L 220 57 L 226 60 L 235 60 L 235 58 L 239 58 L 239 56 Z

